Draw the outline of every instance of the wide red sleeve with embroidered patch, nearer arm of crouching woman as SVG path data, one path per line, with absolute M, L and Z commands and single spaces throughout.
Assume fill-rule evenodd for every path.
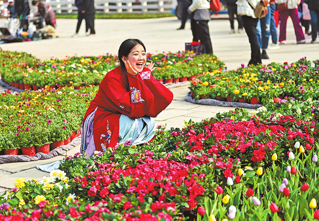
M 105 78 L 102 90 L 116 106 L 117 111 L 131 118 L 141 118 L 152 107 L 154 97 L 150 89 L 130 74 L 128 74 L 128 85 L 127 91 L 125 83 L 115 75 L 111 75 Z

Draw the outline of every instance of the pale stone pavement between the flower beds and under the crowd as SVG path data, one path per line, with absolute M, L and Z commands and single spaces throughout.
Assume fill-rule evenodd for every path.
M 109 20 L 98 19 L 96 23 L 96 37 L 85 37 L 84 25 L 80 29 L 80 36 L 70 37 L 74 31 L 77 20 L 58 19 L 58 38 L 0 44 L 3 50 L 24 51 L 35 55 L 38 59 L 62 58 L 65 56 L 116 54 L 121 42 L 129 37 L 140 38 L 147 52 L 159 53 L 163 51 L 177 52 L 185 50 L 185 42 L 191 42 L 192 35 L 189 21 L 185 30 L 176 30 L 180 21 L 175 17 L 160 19 L 126 19 Z M 4 19 L 0 19 L 0 27 Z M 228 70 L 236 69 L 241 64 L 247 65 L 250 59 L 250 45 L 246 34 L 229 35 L 229 21 L 226 19 L 213 19 L 209 22 L 210 34 L 214 54 L 219 57 Z M 280 45 L 279 50 L 267 51 L 270 62 L 294 62 L 301 57 L 309 60 L 319 58 L 319 43 L 310 44 L 311 37 L 306 36 L 307 44 L 296 45 L 292 22 L 287 22 L 287 44 Z M 4 88 L 0 88 L 3 91 Z M 155 118 L 157 125 L 166 124 L 167 128 L 184 126 L 184 120 L 200 121 L 203 118 L 214 116 L 217 112 L 229 111 L 234 108 L 202 106 L 185 102 L 184 98 L 189 92 L 188 85 L 171 88 L 174 94 L 173 102 Z M 69 150 L 66 155 L 78 152 L 80 146 Z M 61 160 L 64 156 L 57 156 L 48 160 L 33 162 L 20 162 L 0 164 L 0 192 L 14 187 L 18 177 L 26 180 L 41 179 L 49 173 L 41 172 L 36 165 L 48 164 Z

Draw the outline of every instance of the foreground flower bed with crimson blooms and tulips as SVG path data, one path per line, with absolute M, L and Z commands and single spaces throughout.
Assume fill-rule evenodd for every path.
M 89 159 L 67 156 L 50 178 L 19 178 L 1 197 L 0 218 L 319 219 L 318 106 L 287 98 L 183 129 L 159 126 L 138 147 L 126 142 Z

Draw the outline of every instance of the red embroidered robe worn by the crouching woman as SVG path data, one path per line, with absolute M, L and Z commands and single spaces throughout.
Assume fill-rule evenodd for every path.
M 130 118 L 156 117 L 173 100 L 173 93 L 156 80 L 151 70 L 133 76 L 117 67 L 107 73 L 99 85 L 86 117 L 94 111 L 93 136 L 96 150 L 105 151 L 119 142 L 122 114 Z M 83 121 L 84 121 L 83 120 Z

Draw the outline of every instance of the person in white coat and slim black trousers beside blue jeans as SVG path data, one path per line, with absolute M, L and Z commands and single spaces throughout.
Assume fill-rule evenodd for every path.
M 249 2 L 248 2 L 249 1 Z M 258 18 L 255 17 L 252 7 L 256 7 L 259 0 L 237 0 L 237 13 L 241 15 L 246 34 L 251 45 L 251 60 L 248 65 L 261 64 L 260 47 L 256 34 Z

